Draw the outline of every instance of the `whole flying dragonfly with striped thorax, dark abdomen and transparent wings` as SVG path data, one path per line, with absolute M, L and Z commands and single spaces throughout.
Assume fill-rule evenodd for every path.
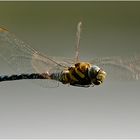
M 140 56 L 99 57 L 89 62 L 80 61 L 79 46 L 82 22 L 76 31 L 75 57 L 52 57 L 43 54 L 20 40 L 7 29 L 0 28 L 0 57 L 15 70 L 16 74 L 0 74 L 0 82 L 30 79 L 45 81 L 45 87 L 71 85 L 94 87 L 105 79 L 140 79 Z M 47 82 L 46 82 L 47 81 Z M 39 82 L 41 83 L 41 82 Z

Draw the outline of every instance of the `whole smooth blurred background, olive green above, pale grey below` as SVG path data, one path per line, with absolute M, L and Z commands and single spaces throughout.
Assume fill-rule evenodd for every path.
M 82 59 L 139 54 L 140 2 L 0 2 L 0 26 L 51 56 L 75 56 L 79 21 Z M 139 85 L 0 83 L 0 138 L 140 138 Z

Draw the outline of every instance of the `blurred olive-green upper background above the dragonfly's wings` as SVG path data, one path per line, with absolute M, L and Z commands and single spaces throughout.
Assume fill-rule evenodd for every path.
M 0 2 L 0 25 L 49 55 L 74 56 L 79 21 L 84 58 L 140 50 L 140 2 Z

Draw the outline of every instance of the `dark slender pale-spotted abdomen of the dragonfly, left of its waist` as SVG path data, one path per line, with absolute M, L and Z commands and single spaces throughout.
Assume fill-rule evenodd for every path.
M 0 76 L 0 82 L 22 79 L 48 79 L 48 78 L 44 74 L 39 73 Z

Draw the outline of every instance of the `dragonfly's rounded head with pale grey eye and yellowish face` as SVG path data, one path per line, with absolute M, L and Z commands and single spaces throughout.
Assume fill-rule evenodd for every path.
M 106 72 L 98 66 L 93 65 L 89 68 L 88 76 L 94 85 L 100 85 L 106 78 Z

